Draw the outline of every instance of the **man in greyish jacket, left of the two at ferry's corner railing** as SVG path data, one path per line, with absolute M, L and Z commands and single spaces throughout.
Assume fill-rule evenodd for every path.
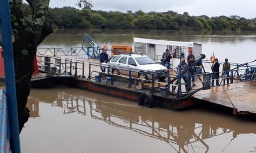
M 181 68 L 181 70 L 180 70 Z M 180 71 L 181 73 L 186 70 L 188 68 L 188 64 L 186 63 L 185 59 L 182 59 L 182 63 L 178 65 L 177 67 L 177 71 L 176 71 L 176 74 L 178 74 L 178 72 Z M 182 75 L 182 79 L 184 80 L 185 82 L 185 88 L 186 88 L 186 92 L 188 93 L 189 92 L 189 88 L 190 88 L 190 84 L 188 82 L 188 78 L 186 76 L 187 74 L 183 74 Z M 178 80 L 175 82 L 175 85 L 177 86 L 178 85 Z M 172 91 L 174 92 L 175 89 L 176 89 L 176 86 L 173 86 L 172 87 Z

